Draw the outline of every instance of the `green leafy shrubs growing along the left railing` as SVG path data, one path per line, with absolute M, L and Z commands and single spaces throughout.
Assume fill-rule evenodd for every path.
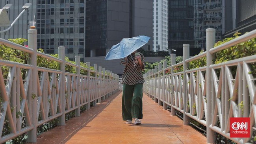
M 23 39 L 23 38 L 8 39 L 8 40 L 11 42 L 20 44 L 22 46 L 26 46 L 26 45 L 24 45 L 24 42 L 27 41 L 26 39 Z M 28 47 L 28 46 L 26 46 L 26 47 Z M 41 49 L 41 48 L 39 48 L 37 51 L 44 53 L 43 49 Z M 52 56 L 58 58 L 58 54 L 52 54 Z M 17 62 L 17 63 L 28 64 L 29 54 L 26 52 L 22 52 L 20 50 L 15 50 L 13 48 L 9 48 L 5 45 L 0 45 L 0 59 L 6 60 L 6 61 L 13 61 L 13 62 Z M 68 57 L 65 57 L 65 61 L 75 64 L 75 62 L 70 61 Z M 58 62 L 52 61 L 49 59 L 45 59 L 41 56 L 37 56 L 37 66 L 59 70 Z M 86 63 L 80 62 L 80 66 L 82 66 L 84 68 L 88 68 Z M 6 78 L 9 73 L 9 67 L 1 66 L 1 69 L 2 69 L 4 78 Z M 94 70 L 93 66 L 90 66 L 90 70 L 91 71 Z M 27 70 L 25 70 L 25 69 L 21 69 L 23 79 L 25 78 L 26 71 Z M 76 68 L 73 66 L 65 65 L 65 72 L 76 73 Z M 39 72 L 39 76 L 40 76 L 40 74 L 41 74 L 41 72 Z M 80 74 L 87 75 L 87 70 L 81 69 Z M 107 72 L 106 72 L 106 74 L 107 74 Z M 91 72 L 90 76 L 95 76 L 94 72 Z M 1 97 L 0 97 L 0 106 L 1 106 L 1 111 L 2 111 L 2 98 Z M 83 107 L 82 109 L 84 111 L 85 107 Z M 20 116 L 20 114 L 18 113 L 17 117 L 19 118 L 19 116 Z M 67 113 L 65 115 L 66 120 L 72 118 L 73 116 L 74 116 L 74 111 L 71 111 L 70 113 Z M 39 119 L 40 119 L 40 117 L 39 117 Z M 22 118 L 22 127 L 25 127 L 25 126 L 26 126 L 26 122 L 25 122 L 24 118 Z M 48 131 L 49 129 L 52 129 L 53 127 L 56 127 L 56 126 L 58 126 L 58 118 L 37 127 L 37 133 L 42 133 L 42 132 Z M 6 121 L 3 126 L 2 136 L 7 135 L 9 133 L 10 133 L 10 129 L 9 129 L 8 123 Z M 20 135 L 19 137 L 13 138 L 12 140 L 10 140 L 10 142 L 14 143 L 14 144 L 25 143 L 26 139 L 24 139 L 24 137 L 26 135 L 27 134 L 24 133 L 24 134 Z

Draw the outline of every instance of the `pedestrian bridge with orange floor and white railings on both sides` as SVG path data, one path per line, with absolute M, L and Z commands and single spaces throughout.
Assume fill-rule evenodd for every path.
M 145 73 L 141 126 L 122 121 L 117 74 L 81 63 L 78 55 L 75 62 L 65 61 L 63 46 L 58 47 L 58 58 L 38 52 L 36 36 L 37 30 L 28 30 L 28 48 L 0 38 L 0 45 L 8 47 L 6 55 L 12 55 L 12 49 L 24 55 L 17 61 L 9 59 L 15 56 L 0 59 L 0 143 L 23 134 L 28 142 L 54 144 L 255 142 L 256 30 L 214 47 L 215 29 L 206 29 L 206 52 L 189 57 L 189 44 L 183 44 L 182 62 L 176 63 L 171 54 L 170 66 L 163 61 Z M 217 52 L 230 46 L 250 51 L 215 63 Z M 80 116 L 81 107 L 88 111 Z M 167 108 L 171 113 L 163 110 Z M 76 118 L 65 122 L 65 115 L 74 111 Z M 37 127 L 57 118 L 58 127 L 37 136 Z M 247 119 L 250 135 L 230 135 L 236 133 L 230 129 L 234 118 Z M 206 127 L 207 138 L 189 126 L 190 120 Z

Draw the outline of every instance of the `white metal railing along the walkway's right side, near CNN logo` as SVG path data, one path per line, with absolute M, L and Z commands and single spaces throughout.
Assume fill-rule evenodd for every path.
M 249 64 L 256 63 L 256 54 L 213 64 L 213 54 L 241 42 L 256 37 L 256 30 L 242 35 L 215 48 L 215 29 L 206 29 L 206 52 L 189 58 L 189 45 L 183 45 L 184 61 L 175 64 L 175 54 L 171 54 L 171 66 L 149 70 L 144 74 L 143 91 L 154 98 L 163 109 L 171 107 L 184 115 L 184 124 L 189 118 L 206 126 L 207 143 L 215 143 L 215 133 L 219 133 L 236 143 L 250 143 L 254 137 L 256 116 L 256 78 L 250 73 Z M 190 61 L 206 57 L 206 66 L 187 70 Z M 182 72 L 174 73 L 174 68 L 183 66 Z M 230 67 L 237 66 L 233 78 Z M 162 69 L 163 67 L 163 69 Z M 170 70 L 171 74 L 165 74 Z M 218 74 L 216 71 L 220 71 Z M 243 108 L 239 104 L 243 102 Z M 229 119 L 231 117 L 250 118 L 250 137 L 231 138 Z M 219 122 L 219 124 L 217 124 Z

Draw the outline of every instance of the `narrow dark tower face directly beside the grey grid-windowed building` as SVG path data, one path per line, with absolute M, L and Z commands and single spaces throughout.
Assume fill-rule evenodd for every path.
M 86 2 L 85 51 L 86 57 L 106 55 L 107 1 Z

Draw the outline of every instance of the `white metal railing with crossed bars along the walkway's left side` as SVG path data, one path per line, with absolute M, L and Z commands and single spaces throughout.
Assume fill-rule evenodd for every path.
M 28 142 L 36 142 L 37 127 L 59 118 L 59 125 L 65 124 L 65 114 L 75 110 L 80 116 L 80 107 L 90 108 L 90 103 L 108 98 L 119 90 L 119 76 L 94 65 L 94 70 L 80 66 L 80 56 L 76 64 L 65 62 L 65 47 L 59 47 L 59 58 L 37 52 L 37 30 L 28 30 L 28 47 L 0 38 L 0 44 L 30 54 L 29 64 L 0 59 L 0 133 L 9 129 L 9 134 L 0 136 L 0 143 L 28 132 Z M 56 61 L 59 70 L 37 66 L 37 56 Z M 76 74 L 65 72 L 65 65 L 76 68 Z M 9 68 L 4 77 L 2 68 Z M 80 69 L 87 76 L 80 74 Z M 98 70 L 97 70 L 98 69 Z M 26 76 L 22 78 L 22 71 Z M 90 76 L 94 73 L 94 76 Z M 25 126 L 22 119 L 25 118 Z M 6 127 L 7 126 L 7 127 Z

